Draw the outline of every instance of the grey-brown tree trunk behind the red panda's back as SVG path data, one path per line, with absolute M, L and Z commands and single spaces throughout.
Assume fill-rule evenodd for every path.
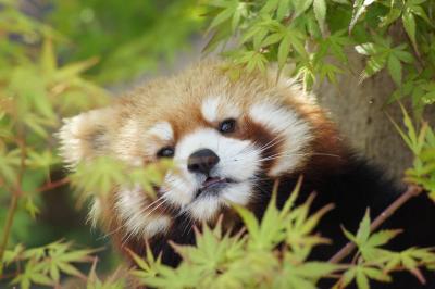
M 398 124 L 402 123 L 400 106 L 397 103 L 385 105 L 395 85 L 385 71 L 360 83 L 359 74 L 364 65 L 362 56 L 350 52 L 349 67 L 353 73 L 341 75 L 337 86 L 323 83 L 315 92 L 344 137 L 388 175 L 401 179 L 403 171 L 412 165 L 412 153 L 387 117 L 389 114 Z M 432 111 L 424 115 L 432 124 L 435 121 L 433 106 L 427 105 Z

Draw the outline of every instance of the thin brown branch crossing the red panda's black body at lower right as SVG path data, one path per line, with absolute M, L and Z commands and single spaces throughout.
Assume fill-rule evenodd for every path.
M 378 215 L 370 225 L 370 231 L 376 230 L 388 217 L 390 217 L 400 206 L 408 202 L 411 198 L 418 196 L 422 191 L 419 186 L 411 185 L 408 187 L 396 201 L 394 201 L 384 212 Z M 357 246 L 353 242 L 348 242 L 335 255 L 330 259 L 330 263 L 339 263 L 348 256 Z

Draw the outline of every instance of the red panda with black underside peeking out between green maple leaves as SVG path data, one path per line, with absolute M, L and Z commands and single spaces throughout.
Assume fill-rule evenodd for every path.
M 177 174 L 167 173 L 157 201 L 139 187 L 121 186 L 96 200 L 91 214 L 121 249 L 140 255 L 149 242 L 174 266 L 179 257 L 167 240 L 195 243 L 191 227 L 221 214 L 224 225 L 236 226 L 234 203 L 261 218 L 277 178 L 278 205 L 300 175 L 301 201 L 316 191 L 314 209 L 335 204 L 319 227 L 334 244 L 313 252 L 323 260 L 346 243 L 341 225 L 355 230 L 366 208 L 377 215 L 402 191 L 353 153 L 315 97 L 295 80 L 256 73 L 234 80 L 220 62 L 203 61 L 109 108 L 65 120 L 59 136 L 70 167 L 97 155 L 132 166 L 173 159 Z M 385 224 L 406 230 L 391 248 L 435 244 L 435 208 L 425 198 L 411 200 Z

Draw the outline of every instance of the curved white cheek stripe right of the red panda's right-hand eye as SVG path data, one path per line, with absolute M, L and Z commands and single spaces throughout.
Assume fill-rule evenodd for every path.
M 249 115 L 256 123 L 284 137 L 284 142 L 277 143 L 283 149 L 279 155 L 276 155 L 275 165 L 269 172 L 270 176 L 290 173 L 302 164 L 313 138 L 307 122 L 295 111 L 266 102 L 254 104 Z

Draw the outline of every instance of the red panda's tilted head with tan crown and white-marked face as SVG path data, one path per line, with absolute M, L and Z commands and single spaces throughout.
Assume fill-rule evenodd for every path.
M 338 150 L 335 128 L 295 83 L 260 74 L 233 80 L 221 66 L 200 63 L 65 121 L 61 152 L 72 166 L 96 155 L 133 166 L 174 161 L 158 202 L 139 187 L 114 191 L 110 204 L 96 202 L 110 226 L 149 238 L 170 230 L 179 214 L 213 221 L 232 204 L 256 202 L 264 178 L 303 173 L 315 165 L 313 155 Z

